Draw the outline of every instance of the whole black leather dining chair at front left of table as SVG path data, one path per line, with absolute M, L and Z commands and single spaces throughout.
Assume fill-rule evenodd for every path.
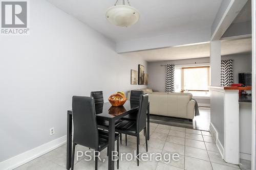
M 74 169 L 75 147 L 80 144 L 84 147 L 94 149 L 95 152 L 95 169 L 98 168 L 98 152 L 108 147 L 109 132 L 97 128 L 95 116 L 95 104 L 92 97 L 73 96 L 73 152 L 71 169 Z M 119 156 L 119 134 L 115 133 L 117 140 L 117 152 Z M 119 159 L 117 160 L 117 168 L 119 167 Z

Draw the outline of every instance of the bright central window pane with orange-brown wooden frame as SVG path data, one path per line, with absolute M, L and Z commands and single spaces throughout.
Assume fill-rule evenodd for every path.
M 208 91 L 209 66 L 181 68 L 181 86 L 188 91 Z

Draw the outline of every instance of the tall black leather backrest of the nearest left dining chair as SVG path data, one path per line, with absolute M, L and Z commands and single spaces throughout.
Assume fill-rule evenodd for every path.
M 98 149 L 99 134 L 92 97 L 73 96 L 73 142 L 92 149 Z

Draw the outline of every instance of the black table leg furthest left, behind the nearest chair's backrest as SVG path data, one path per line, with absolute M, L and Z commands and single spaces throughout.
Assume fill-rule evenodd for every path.
M 68 113 L 67 119 L 67 169 L 71 168 L 72 158 L 72 114 Z

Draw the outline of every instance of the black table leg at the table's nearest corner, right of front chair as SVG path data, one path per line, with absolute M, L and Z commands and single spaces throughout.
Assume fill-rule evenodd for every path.
M 115 164 L 112 160 L 112 151 L 115 151 L 115 121 L 109 120 L 109 168 L 108 170 L 114 170 Z

